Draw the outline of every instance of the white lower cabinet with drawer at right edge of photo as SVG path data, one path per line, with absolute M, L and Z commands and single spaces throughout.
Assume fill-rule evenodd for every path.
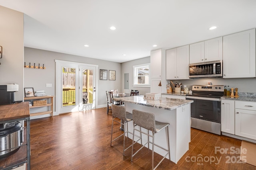
M 235 135 L 256 140 L 256 102 L 235 102 Z

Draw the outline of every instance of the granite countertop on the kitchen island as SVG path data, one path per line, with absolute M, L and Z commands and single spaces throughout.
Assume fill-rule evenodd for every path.
M 181 100 L 181 99 L 171 99 L 171 98 L 160 98 L 160 100 L 148 100 L 144 96 L 129 96 L 129 97 L 120 97 L 113 98 L 114 101 L 128 102 L 132 104 L 139 104 L 143 106 L 155 107 L 165 110 L 173 110 L 178 107 L 191 104 L 193 100 Z

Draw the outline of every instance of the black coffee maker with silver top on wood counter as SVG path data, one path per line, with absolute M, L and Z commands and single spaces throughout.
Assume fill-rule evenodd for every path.
M 13 104 L 15 102 L 15 92 L 19 89 L 18 84 L 0 85 L 0 105 Z

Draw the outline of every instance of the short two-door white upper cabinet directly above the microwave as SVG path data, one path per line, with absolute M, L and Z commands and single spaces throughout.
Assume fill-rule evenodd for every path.
M 189 63 L 222 60 L 222 37 L 190 44 Z

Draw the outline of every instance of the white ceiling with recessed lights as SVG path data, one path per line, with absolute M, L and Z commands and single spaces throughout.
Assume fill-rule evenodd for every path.
M 0 0 L 0 5 L 25 14 L 25 47 L 118 63 L 256 27 L 256 0 Z M 217 29 L 208 30 L 212 25 Z

